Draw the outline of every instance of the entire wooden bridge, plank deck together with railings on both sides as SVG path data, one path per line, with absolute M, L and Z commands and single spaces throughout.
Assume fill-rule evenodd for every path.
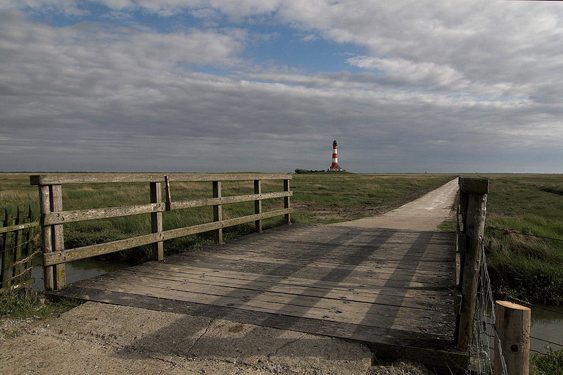
M 65 221 L 61 218 L 65 217 L 66 222 L 77 221 L 107 212 L 113 212 L 115 217 L 116 212 L 139 213 L 139 208 L 65 212 L 56 209 L 62 208 L 62 203 L 56 205 L 55 199 L 53 208 L 53 199 L 43 196 L 43 232 L 51 235 L 52 245 L 49 248 L 47 242 L 44 248 L 46 286 L 51 289 L 48 293 L 346 338 L 365 343 L 378 357 L 408 358 L 443 369 L 467 368 L 467 349 L 471 342 L 467 335 L 472 331 L 471 300 L 474 300 L 472 284 L 476 284 L 470 270 L 474 265 L 469 262 L 479 260 L 473 260 L 476 255 L 466 254 L 472 254 L 471 248 L 476 247 L 472 231 L 476 227 L 479 230 L 479 222 L 472 222 L 472 217 L 479 215 L 472 212 L 484 215 L 486 192 L 482 183 L 466 180 L 462 189 L 460 216 L 464 225 L 460 238 L 464 244 L 460 254 L 453 232 L 304 225 L 261 232 L 259 221 L 268 215 L 284 215 L 286 222 L 290 222 L 290 175 L 134 176 L 125 182 L 150 178 L 153 191 L 160 191 L 160 186 L 154 185 L 161 181 L 167 186 L 165 202 L 160 202 L 155 192 L 153 205 L 144 208 L 157 221 L 153 222 L 155 234 L 144 236 L 144 241 L 162 243 L 171 235 L 171 231 L 158 227 L 153 210 L 196 203 L 213 205 L 214 212 L 220 214 L 220 205 L 229 201 L 255 201 L 254 215 L 230 220 L 236 224 L 255 221 L 258 233 L 165 260 L 156 247 L 154 261 L 62 288 L 64 269 L 62 272 L 55 269 L 53 273 L 52 268 L 61 267 L 68 260 L 121 250 L 125 244 L 122 240 L 63 250 L 61 241 L 57 241 L 62 236 L 61 223 Z M 193 180 L 194 176 L 198 176 L 198 181 L 213 181 L 214 198 L 196 203 L 172 202 L 169 180 Z M 260 177 L 283 179 L 284 191 L 262 195 Z M 37 176 L 32 177 L 32 183 L 39 184 L 44 194 L 52 195 L 53 185 L 59 186 L 54 188 L 57 192 L 66 181 L 63 178 Z M 116 182 L 116 179 L 123 182 L 124 178 L 120 175 L 104 182 Z M 220 181 L 232 178 L 253 180 L 255 193 L 238 198 L 221 197 Z M 72 179 L 72 183 L 86 182 L 93 181 L 90 177 Z M 478 198 L 470 198 L 468 194 Z M 283 209 L 274 210 L 273 214 L 261 212 L 262 199 L 280 196 L 284 197 Z M 51 205 L 47 204 L 49 201 Z M 199 231 L 216 231 L 217 242 L 221 243 L 218 231 L 229 221 L 222 220 L 220 215 L 214 218 L 215 222 L 196 227 Z M 196 232 L 194 227 L 189 228 L 192 229 L 173 231 L 184 235 Z M 132 246 L 139 243 L 138 239 L 132 239 Z M 47 279 L 49 267 L 58 281 Z M 471 285 L 465 286 L 464 280 Z M 471 322 L 471 327 L 467 322 Z

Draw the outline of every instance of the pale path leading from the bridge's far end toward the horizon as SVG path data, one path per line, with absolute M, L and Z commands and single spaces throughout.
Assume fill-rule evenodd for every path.
M 386 212 L 350 222 L 331 224 L 339 227 L 389 228 L 413 231 L 434 231 L 448 218 L 457 196 L 457 178 L 436 190 Z

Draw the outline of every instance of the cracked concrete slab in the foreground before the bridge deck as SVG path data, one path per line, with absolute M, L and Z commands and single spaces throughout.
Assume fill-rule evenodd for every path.
M 366 374 L 371 364 L 358 343 L 92 302 L 0 344 L 2 374 Z

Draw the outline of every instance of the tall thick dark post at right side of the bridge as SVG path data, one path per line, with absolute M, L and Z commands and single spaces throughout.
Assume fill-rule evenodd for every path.
M 473 317 L 479 269 L 481 266 L 481 248 L 485 231 L 488 179 L 460 178 L 461 193 L 467 193 L 467 211 L 463 223 L 463 236 L 460 249 L 461 262 L 461 310 L 457 319 L 457 348 L 469 350 L 473 337 Z

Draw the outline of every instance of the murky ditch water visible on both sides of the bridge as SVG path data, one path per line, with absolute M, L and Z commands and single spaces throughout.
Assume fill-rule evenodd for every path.
M 38 257 L 39 258 L 39 257 Z M 68 284 L 75 281 L 89 279 L 108 272 L 117 271 L 129 266 L 125 262 L 108 262 L 87 258 L 66 263 L 66 281 Z M 32 277 L 35 279 L 33 288 L 37 291 L 43 290 L 43 269 L 37 264 L 32 269 Z M 541 339 L 541 340 L 539 340 Z M 554 350 L 563 349 L 561 345 L 546 343 L 563 343 L 563 306 L 544 305 L 532 307 L 532 319 L 530 327 L 530 349 L 538 352 L 547 352 L 546 345 Z

